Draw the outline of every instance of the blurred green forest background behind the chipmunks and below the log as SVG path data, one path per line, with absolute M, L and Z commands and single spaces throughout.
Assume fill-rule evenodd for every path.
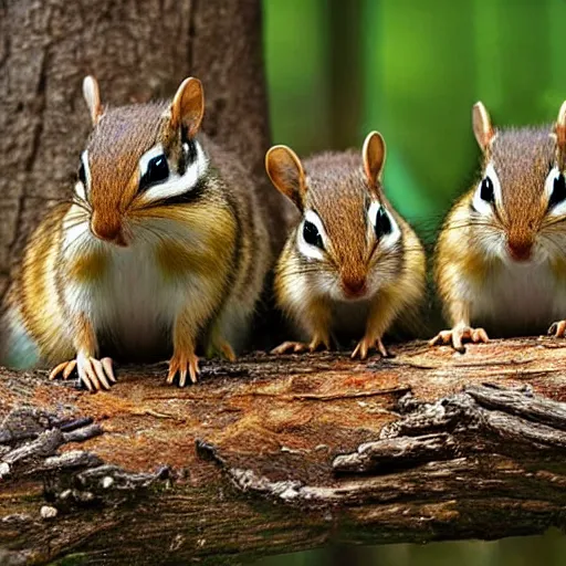
M 474 181 L 481 99 L 495 125 L 554 122 L 566 0 L 263 0 L 272 137 L 300 156 L 385 136 L 385 187 L 431 243 Z M 564 566 L 566 537 L 325 548 L 258 566 Z

